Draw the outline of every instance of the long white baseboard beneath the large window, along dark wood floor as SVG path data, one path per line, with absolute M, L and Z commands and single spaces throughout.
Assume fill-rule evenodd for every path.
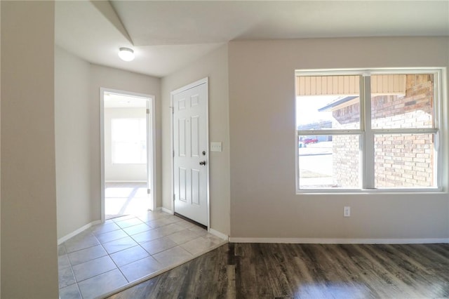
M 229 237 L 232 243 L 285 243 L 285 244 L 430 244 L 449 243 L 448 238 L 434 239 L 321 239 L 321 238 L 241 238 Z

